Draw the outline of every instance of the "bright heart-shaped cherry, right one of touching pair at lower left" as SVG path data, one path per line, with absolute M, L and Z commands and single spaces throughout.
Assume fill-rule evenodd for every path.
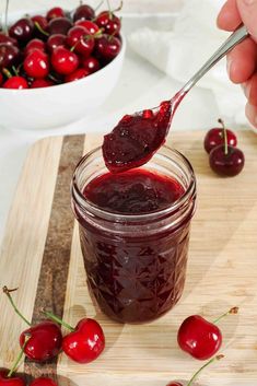
M 75 362 L 90 363 L 105 348 L 105 337 L 100 324 L 90 318 L 81 319 L 74 331 L 68 334 L 62 341 L 62 350 Z

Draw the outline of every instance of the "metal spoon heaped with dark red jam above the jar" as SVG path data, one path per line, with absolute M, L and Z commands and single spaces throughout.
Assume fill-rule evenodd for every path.
M 114 130 L 104 137 L 103 156 L 112 173 L 145 164 L 165 142 L 173 116 L 188 91 L 234 46 L 248 36 L 243 25 L 214 52 L 203 67 L 171 100 L 159 108 L 126 115 Z

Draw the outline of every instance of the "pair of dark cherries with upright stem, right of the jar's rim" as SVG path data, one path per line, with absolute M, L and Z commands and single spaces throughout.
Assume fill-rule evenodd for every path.
M 205 149 L 209 153 L 210 167 L 223 176 L 236 176 L 245 164 L 244 153 L 236 148 L 237 139 L 233 131 L 227 130 L 222 119 L 218 120 L 222 128 L 208 131 Z

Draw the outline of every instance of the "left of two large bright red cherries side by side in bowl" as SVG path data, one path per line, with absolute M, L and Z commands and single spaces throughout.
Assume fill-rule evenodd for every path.
M 49 73 L 48 56 L 42 50 L 34 49 L 25 58 L 23 67 L 28 77 L 45 78 Z

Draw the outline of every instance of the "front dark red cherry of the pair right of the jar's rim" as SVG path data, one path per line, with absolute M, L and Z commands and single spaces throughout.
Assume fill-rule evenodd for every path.
M 212 149 L 209 156 L 212 171 L 222 176 L 236 176 L 244 168 L 244 153 L 237 148 L 227 145 L 225 153 L 224 144 L 220 144 Z

